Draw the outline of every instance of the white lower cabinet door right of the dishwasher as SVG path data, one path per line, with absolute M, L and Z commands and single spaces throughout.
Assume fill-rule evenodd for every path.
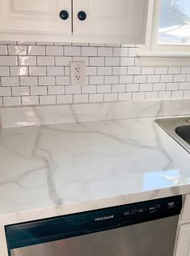
M 179 228 L 175 256 L 190 256 L 190 223 L 181 225 Z

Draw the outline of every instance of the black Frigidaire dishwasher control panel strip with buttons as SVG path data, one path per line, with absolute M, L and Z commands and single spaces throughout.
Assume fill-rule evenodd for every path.
M 130 203 L 99 210 L 6 226 L 8 249 L 37 245 L 179 215 L 182 196 Z

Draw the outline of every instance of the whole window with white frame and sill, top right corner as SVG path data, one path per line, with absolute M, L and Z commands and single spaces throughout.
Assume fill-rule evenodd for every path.
M 190 0 L 150 0 L 141 65 L 190 66 Z

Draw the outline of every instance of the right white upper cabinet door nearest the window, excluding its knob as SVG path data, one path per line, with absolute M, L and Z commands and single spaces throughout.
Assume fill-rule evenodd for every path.
M 74 0 L 74 35 L 95 41 L 142 43 L 146 35 L 148 0 Z M 87 14 L 78 19 L 78 12 Z

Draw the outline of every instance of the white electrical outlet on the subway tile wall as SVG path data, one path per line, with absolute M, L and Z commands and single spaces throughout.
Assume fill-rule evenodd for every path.
M 84 85 L 85 62 L 70 63 L 70 85 Z

